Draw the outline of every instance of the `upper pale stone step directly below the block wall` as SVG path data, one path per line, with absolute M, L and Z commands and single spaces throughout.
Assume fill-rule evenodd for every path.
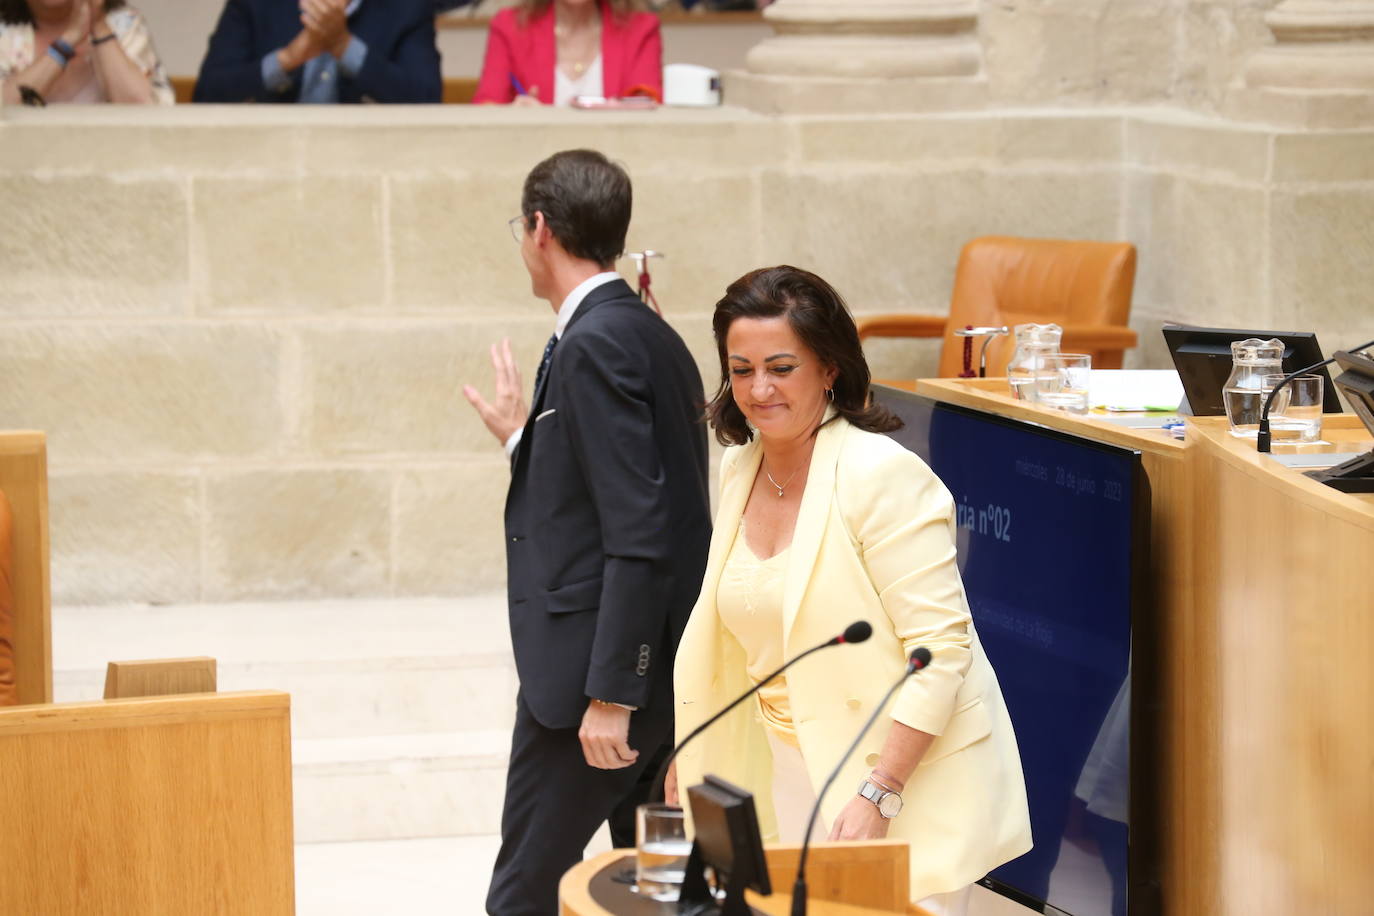
M 297 739 L 504 731 L 517 678 L 504 595 L 58 608 L 54 695 L 95 699 L 111 659 L 210 655 L 221 691 L 291 694 Z

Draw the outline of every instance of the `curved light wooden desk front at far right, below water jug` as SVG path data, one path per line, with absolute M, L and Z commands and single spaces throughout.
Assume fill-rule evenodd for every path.
M 1374 445 L 1353 420 L 1327 416 L 1323 438 Z M 1257 455 L 1224 419 L 1194 433 L 1219 781 L 1216 823 L 1193 829 L 1217 849 L 1224 906 L 1187 912 L 1369 912 L 1374 501 Z

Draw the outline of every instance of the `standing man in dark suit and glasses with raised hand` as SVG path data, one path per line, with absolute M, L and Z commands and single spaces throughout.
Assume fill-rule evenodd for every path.
M 519 673 L 486 909 L 552 916 L 558 879 L 633 809 L 673 735 L 673 654 L 710 538 L 702 386 L 682 338 L 611 271 L 631 187 L 589 150 L 525 180 L 511 227 L 558 314 L 526 411 L 510 343 L 464 394 L 511 453 L 506 560 Z

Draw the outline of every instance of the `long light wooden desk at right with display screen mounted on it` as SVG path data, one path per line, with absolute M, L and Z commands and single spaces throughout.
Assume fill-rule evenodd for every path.
M 1257 455 L 1224 417 L 1176 441 L 1014 401 L 1006 379 L 904 387 L 1140 450 L 1157 628 L 1135 647 L 1156 661 L 1135 699 L 1160 709 L 1162 912 L 1369 912 L 1374 497 Z M 1327 416 L 1323 438 L 1275 452 L 1374 446 L 1351 415 Z

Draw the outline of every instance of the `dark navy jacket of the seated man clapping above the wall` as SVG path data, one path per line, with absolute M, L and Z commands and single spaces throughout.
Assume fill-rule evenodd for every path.
M 195 81 L 195 102 L 295 102 L 301 70 L 276 93 L 262 85 L 262 58 L 301 30 L 297 0 L 228 0 Z M 367 44 L 354 78 L 339 74 L 339 102 L 438 102 L 434 0 L 364 0 L 349 30 Z

